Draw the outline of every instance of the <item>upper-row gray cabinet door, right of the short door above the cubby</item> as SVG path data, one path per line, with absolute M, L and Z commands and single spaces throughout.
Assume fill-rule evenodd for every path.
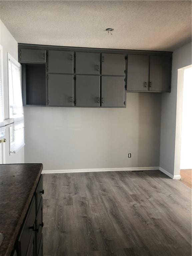
M 50 73 L 73 73 L 73 52 L 49 51 L 48 71 Z

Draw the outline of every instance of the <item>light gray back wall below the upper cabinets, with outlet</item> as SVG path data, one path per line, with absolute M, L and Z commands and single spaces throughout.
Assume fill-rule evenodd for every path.
M 127 93 L 125 109 L 25 107 L 24 114 L 25 163 L 44 170 L 159 166 L 161 94 Z

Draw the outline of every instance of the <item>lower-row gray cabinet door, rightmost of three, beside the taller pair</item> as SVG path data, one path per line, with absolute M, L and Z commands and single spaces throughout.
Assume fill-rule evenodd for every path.
M 124 107 L 125 82 L 121 76 L 102 76 L 101 106 Z

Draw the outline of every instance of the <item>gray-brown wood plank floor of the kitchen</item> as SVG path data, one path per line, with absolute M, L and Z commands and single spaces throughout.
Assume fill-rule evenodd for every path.
M 160 171 L 44 174 L 44 256 L 191 256 L 191 189 Z

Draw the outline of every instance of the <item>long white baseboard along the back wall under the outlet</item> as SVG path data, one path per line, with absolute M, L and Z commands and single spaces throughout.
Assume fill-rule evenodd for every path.
M 99 168 L 99 169 L 69 169 L 69 170 L 43 170 L 42 174 L 48 173 L 74 173 L 74 172 L 111 172 L 111 171 L 145 171 L 159 170 L 159 167 L 125 167 L 125 168 Z

